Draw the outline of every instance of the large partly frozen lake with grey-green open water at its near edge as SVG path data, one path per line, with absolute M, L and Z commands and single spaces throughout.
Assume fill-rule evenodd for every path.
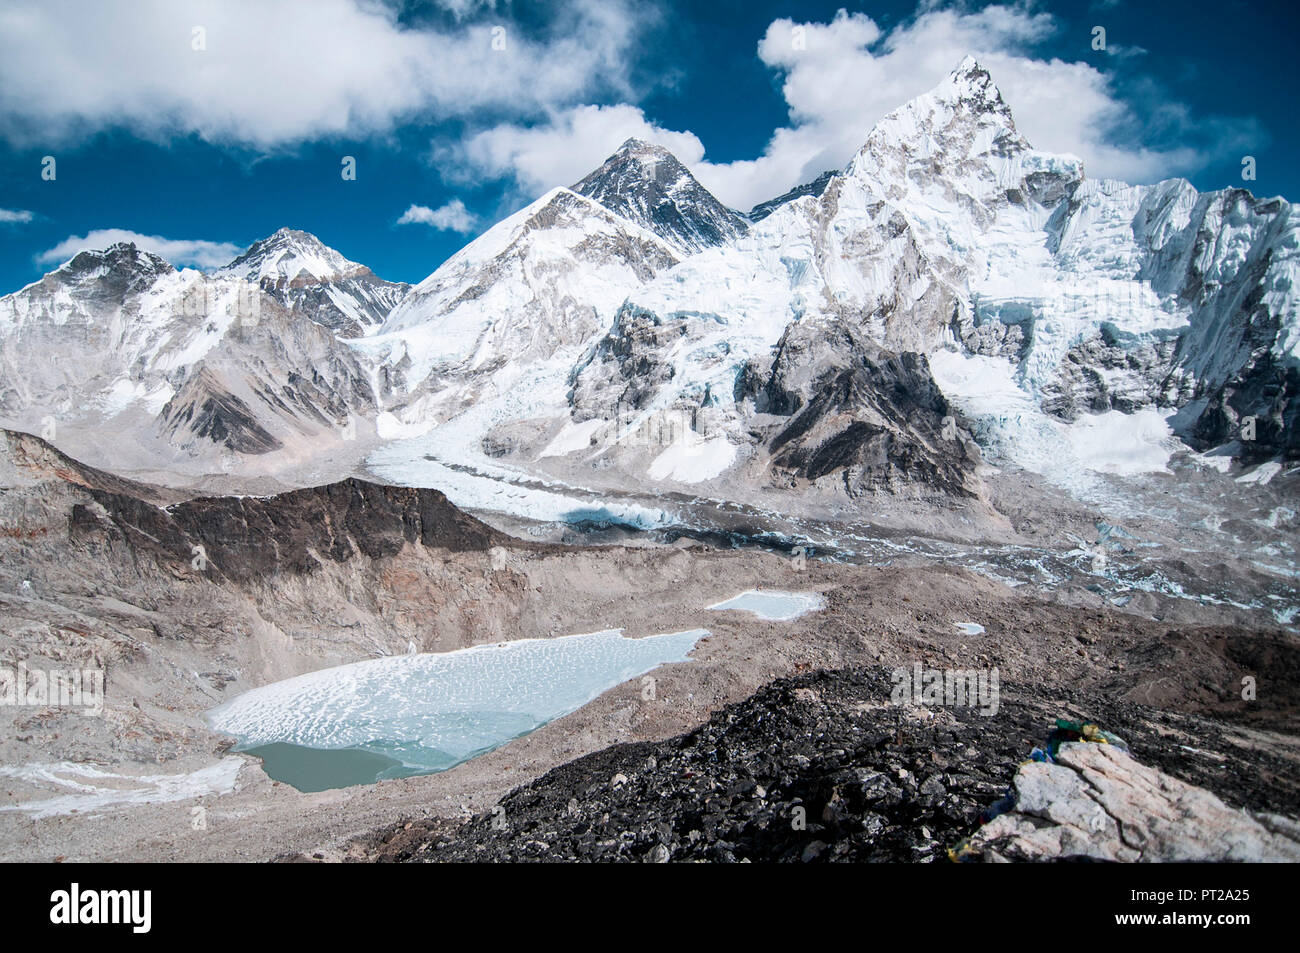
M 688 660 L 707 634 L 610 629 L 355 662 L 244 692 L 208 722 L 300 790 L 445 771 Z

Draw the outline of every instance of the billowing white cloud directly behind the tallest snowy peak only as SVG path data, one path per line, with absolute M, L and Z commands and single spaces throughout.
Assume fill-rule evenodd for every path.
M 1024 138 L 1036 148 L 1079 156 L 1089 176 L 1149 182 L 1208 161 L 1191 146 L 1143 144 L 1140 118 L 1093 65 L 1036 56 L 1035 46 L 1058 29 L 1050 14 L 1026 7 L 926 7 L 889 31 L 844 10 L 829 23 L 772 22 L 758 55 L 784 74 L 790 125 L 774 133 L 757 160 L 702 164 L 699 179 L 746 205 L 841 168 L 881 117 L 936 86 L 968 53 L 992 74 Z

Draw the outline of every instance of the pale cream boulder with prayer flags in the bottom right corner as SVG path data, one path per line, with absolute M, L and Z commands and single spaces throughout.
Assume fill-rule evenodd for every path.
M 1065 744 L 1015 772 L 1015 807 L 971 839 L 985 861 L 1300 861 L 1300 824 L 1231 810 L 1113 745 Z

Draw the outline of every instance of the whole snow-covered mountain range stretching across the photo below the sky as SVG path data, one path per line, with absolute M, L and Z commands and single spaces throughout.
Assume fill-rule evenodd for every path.
M 732 498 L 979 495 L 967 432 L 1074 489 L 1175 433 L 1300 454 L 1291 205 L 1089 179 L 971 59 L 753 218 L 629 140 L 410 290 L 290 230 L 211 276 L 87 252 L 0 299 L 0 416 L 113 420 L 160 463 L 307 459 L 373 417 L 403 480 Z

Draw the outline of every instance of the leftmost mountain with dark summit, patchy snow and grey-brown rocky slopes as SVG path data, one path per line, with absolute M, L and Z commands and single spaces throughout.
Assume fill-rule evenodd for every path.
M 107 468 L 302 460 L 374 416 L 333 330 L 229 269 L 178 272 L 129 243 L 0 298 L 0 417 Z

